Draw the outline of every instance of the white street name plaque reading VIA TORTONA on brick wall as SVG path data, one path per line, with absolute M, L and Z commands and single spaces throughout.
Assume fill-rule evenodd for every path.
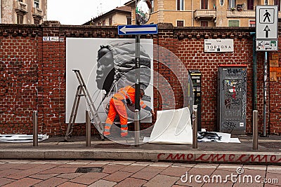
M 204 52 L 233 52 L 233 39 L 205 39 Z

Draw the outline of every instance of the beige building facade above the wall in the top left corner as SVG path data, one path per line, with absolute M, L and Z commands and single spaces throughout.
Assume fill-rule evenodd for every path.
M 47 20 L 47 0 L 1 0 L 0 23 L 41 24 Z

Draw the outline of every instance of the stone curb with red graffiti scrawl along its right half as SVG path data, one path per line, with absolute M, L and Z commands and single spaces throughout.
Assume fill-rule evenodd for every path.
M 281 165 L 281 153 L 235 151 L 164 151 L 141 149 L 1 149 L 0 159 L 36 160 L 141 160 L 165 162 L 207 162 L 224 164 Z

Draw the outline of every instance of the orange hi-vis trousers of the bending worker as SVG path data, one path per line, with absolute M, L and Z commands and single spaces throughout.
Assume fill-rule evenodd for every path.
M 103 132 L 105 136 L 110 135 L 110 127 L 114 122 L 117 113 L 120 118 L 121 136 L 124 137 L 128 134 L 128 116 L 126 106 L 122 100 L 112 97 L 112 99 L 110 99 L 110 110 L 108 111 L 107 119 L 105 120 L 105 131 Z

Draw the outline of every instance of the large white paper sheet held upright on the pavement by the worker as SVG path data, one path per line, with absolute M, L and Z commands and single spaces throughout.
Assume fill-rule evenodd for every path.
M 148 142 L 150 144 L 192 144 L 189 109 L 157 111 L 157 119 Z

